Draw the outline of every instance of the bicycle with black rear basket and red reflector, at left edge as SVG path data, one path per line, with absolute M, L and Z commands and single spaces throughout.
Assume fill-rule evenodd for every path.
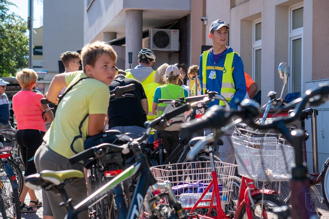
M 20 169 L 15 163 L 8 159 L 12 156 L 10 151 L 17 148 L 17 130 L 5 129 L 0 130 L 0 211 L 4 219 L 21 218 L 19 202 L 19 186 L 17 175 Z M 9 153 L 6 153 L 9 152 Z M 13 171 L 15 169 L 15 172 Z M 21 172 L 20 172 L 21 173 Z M 23 183 L 23 176 L 19 179 Z

